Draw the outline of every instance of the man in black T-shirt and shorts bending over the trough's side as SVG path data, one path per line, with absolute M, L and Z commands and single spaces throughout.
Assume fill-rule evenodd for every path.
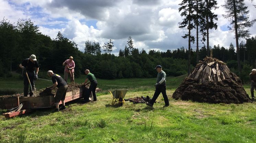
M 51 70 L 49 70 L 47 72 L 47 75 L 49 77 L 51 77 L 51 81 L 53 81 L 53 85 L 50 86 L 50 87 L 47 87 L 47 88 L 50 88 L 51 90 L 53 90 L 56 87 L 58 87 L 58 90 L 57 90 L 55 98 L 54 98 L 55 105 L 56 105 L 55 111 L 58 112 L 59 110 L 66 109 L 66 107 L 65 107 L 65 97 L 66 97 L 66 93 L 67 93 L 67 89 L 68 89 L 67 82 L 65 82 L 60 75 L 53 73 L 53 71 L 51 71 Z M 61 103 L 62 103 L 62 107 L 59 109 L 60 100 L 61 100 Z

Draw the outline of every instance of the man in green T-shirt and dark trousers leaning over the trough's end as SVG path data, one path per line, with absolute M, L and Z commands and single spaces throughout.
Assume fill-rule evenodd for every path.
M 89 90 L 86 93 L 86 96 L 84 97 L 84 101 L 89 102 L 89 97 L 90 97 L 91 92 L 93 95 L 93 101 L 97 101 L 95 90 L 96 90 L 98 83 L 97 83 L 96 77 L 94 76 L 94 74 L 90 73 L 90 70 L 88 70 L 88 69 L 86 69 L 84 72 L 87 75 L 86 79 L 84 81 L 84 85 L 91 83 Z M 88 80 L 89 80 L 89 82 L 88 82 Z

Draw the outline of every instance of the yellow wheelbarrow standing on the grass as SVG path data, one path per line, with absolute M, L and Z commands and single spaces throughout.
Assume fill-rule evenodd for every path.
M 123 103 L 125 102 L 124 98 L 125 98 L 125 95 L 126 95 L 127 91 L 128 91 L 128 89 L 114 90 L 113 92 L 108 91 L 111 94 L 112 98 L 113 98 L 111 105 L 114 105 L 115 102 L 118 101 L 118 104 L 120 106 L 123 106 Z

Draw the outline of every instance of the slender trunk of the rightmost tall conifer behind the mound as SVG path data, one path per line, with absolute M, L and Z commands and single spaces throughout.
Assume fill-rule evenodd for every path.
M 240 63 L 240 52 L 239 52 L 239 44 L 238 44 L 237 19 L 236 19 L 237 16 L 236 16 L 235 0 L 233 0 L 233 8 L 234 8 L 236 55 L 237 55 L 238 72 L 239 72 L 239 76 L 240 76 L 241 75 L 241 63 Z

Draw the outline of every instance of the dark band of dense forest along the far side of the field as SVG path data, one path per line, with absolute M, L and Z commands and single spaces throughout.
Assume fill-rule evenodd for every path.
M 87 40 L 84 52 L 81 52 L 77 44 L 64 37 L 61 32 L 58 32 L 55 39 L 42 34 L 30 19 L 19 19 L 16 26 L 3 19 L 0 22 L 0 33 L 1 77 L 11 76 L 11 71 L 20 72 L 19 64 L 31 54 L 37 56 L 41 77 L 46 76 L 47 70 L 53 70 L 58 74 L 63 73 L 63 61 L 73 56 L 76 77 L 84 74 L 85 69 L 90 69 L 98 78 L 105 79 L 155 77 L 156 65 L 162 65 L 168 76 L 179 76 L 187 73 L 188 55 L 191 57 L 190 68 L 197 64 L 197 58 L 202 60 L 207 55 L 206 46 L 201 47 L 198 52 L 189 51 L 184 47 L 166 52 L 144 49 L 140 51 L 134 47 L 131 37 L 128 38 L 124 50 L 120 48 L 118 56 L 111 54 L 114 47 L 111 39 L 103 46 L 98 42 Z M 242 68 L 246 69 L 247 74 L 256 65 L 254 56 L 256 37 L 246 39 L 246 43 L 241 42 L 239 48 L 242 53 L 240 57 L 243 59 Z M 102 49 L 104 53 L 101 52 Z M 227 62 L 231 70 L 237 73 L 237 53 L 232 43 L 228 48 L 214 45 L 209 46 L 209 49 L 213 49 L 213 57 Z

